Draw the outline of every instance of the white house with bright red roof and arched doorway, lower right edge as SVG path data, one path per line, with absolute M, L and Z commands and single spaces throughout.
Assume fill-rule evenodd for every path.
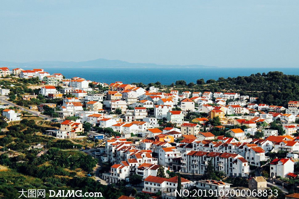
M 275 158 L 270 162 L 270 177 L 287 177 L 288 173 L 294 173 L 294 162 L 287 158 Z

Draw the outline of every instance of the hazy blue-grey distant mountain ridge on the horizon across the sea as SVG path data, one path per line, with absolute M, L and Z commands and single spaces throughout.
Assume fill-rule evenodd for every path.
M 146 64 L 146 63 L 130 63 L 121 60 L 108 60 L 108 59 L 96 59 L 85 62 L 62 62 L 62 61 L 43 61 L 43 62 L 4 62 L 0 61 L 0 67 L 12 68 L 71 68 L 71 67 L 86 67 L 86 68 L 207 68 L 215 66 L 204 65 L 158 65 L 158 64 Z

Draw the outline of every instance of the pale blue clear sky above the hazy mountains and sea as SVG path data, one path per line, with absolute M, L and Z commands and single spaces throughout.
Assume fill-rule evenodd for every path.
M 0 1 L 0 60 L 299 67 L 299 1 Z

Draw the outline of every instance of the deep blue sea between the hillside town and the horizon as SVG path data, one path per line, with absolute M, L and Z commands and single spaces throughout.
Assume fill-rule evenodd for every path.
M 269 71 L 281 71 L 284 74 L 299 75 L 299 68 L 44 68 L 50 74 L 61 73 L 66 78 L 81 77 L 86 80 L 112 83 L 121 81 L 124 83 L 161 82 L 162 84 L 175 83 L 177 80 L 185 80 L 187 83 L 196 83 L 203 78 L 217 80 L 219 77 L 249 76 L 256 73 L 268 73 Z

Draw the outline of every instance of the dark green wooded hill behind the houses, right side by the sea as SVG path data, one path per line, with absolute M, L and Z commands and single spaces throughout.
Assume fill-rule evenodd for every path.
M 149 83 L 148 86 L 163 87 L 159 82 Z M 249 95 L 257 97 L 257 104 L 264 103 L 268 105 L 281 105 L 287 107 L 288 101 L 299 101 L 299 76 L 285 75 L 279 71 L 268 72 L 268 74 L 251 74 L 250 76 L 238 76 L 236 78 L 223 78 L 218 80 L 210 79 L 206 82 L 198 79 L 196 83 L 186 83 L 184 80 L 178 80 L 170 86 L 165 86 L 165 91 L 189 90 L 190 92 L 236 92 L 240 95 Z

